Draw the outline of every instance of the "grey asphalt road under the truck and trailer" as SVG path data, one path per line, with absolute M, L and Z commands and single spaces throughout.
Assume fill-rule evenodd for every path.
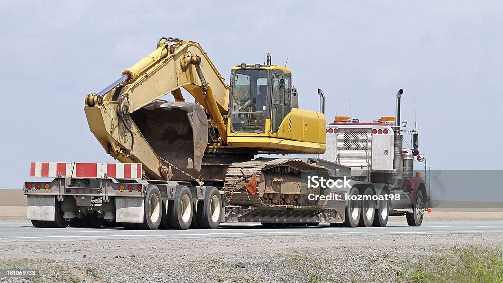
M 421 227 L 408 227 L 405 221 L 388 222 L 384 228 L 331 228 L 319 227 L 264 227 L 260 223 L 227 223 L 217 230 L 157 230 L 131 231 L 122 228 L 34 228 L 31 222 L 0 222 L 0 242 L 17 241 L 78 241 L 88 239 L 183 239 L 227 238 L 253 236 L 307 236 L 307 235 L 448 235 L 499 234 L 503 222 L 425 222 Z

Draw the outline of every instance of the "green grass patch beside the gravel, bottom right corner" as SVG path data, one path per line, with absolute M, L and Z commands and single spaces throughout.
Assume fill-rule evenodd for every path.
M 415 266 L 406 278 L 412 283 L 503 282 L 503 250 L 483 246 L 442 250 Z

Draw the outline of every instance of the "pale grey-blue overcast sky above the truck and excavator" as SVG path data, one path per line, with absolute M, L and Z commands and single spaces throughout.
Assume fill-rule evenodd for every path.
M 402 118 L 436 169 L 502 169 L 500 1 L 0 2 L 0 187 L 21 188 L 30 161 L 114 162 L 89 130 L 98 92 L 178 37 L 201 43 L 229 78 L 238 63 L 293 72 L 301 108 L 372 121 Z M 414 100 L 416 114 L 414 115 Z

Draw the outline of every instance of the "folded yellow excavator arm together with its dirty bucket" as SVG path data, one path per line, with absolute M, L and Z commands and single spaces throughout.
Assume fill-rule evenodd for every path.
M 85 112 L 105 151 L 123 163 L 142 163 L 147 178 L 168 180 L 173 168 L 165 165 L 200 170 L 208 124 L 214 142 L 226 145 L 229 86 L 223 81 L 199 43 L 161 38 L 119 80 L 86 96 Z M 181 88 L 195 102 L 184 102 Z M 158 101 L 169 93 L 175 102 Z

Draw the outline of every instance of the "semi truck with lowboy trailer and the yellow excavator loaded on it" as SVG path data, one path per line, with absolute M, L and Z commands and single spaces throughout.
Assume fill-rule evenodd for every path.
M 291 70 L 269 54 L 264 64 L 235 65 L 230 77 L 226 84 L 199 43 L 159 39 L 85 98 L 90 130 L 119 162 L 32 162 L 31 177 L 51 179 L 24 183 L 28 219 L 38 228 L 143 230 L 226 221 L 383 227 L 398 215 L 422 224 L 429 195 L 412 165 L 424 156 L 415 129 L 401 124 L 403 91 L 395 117 L 326 124 L 324 107 L 299 108 Z M 263 157 L 271 154 L 285 157 Z

